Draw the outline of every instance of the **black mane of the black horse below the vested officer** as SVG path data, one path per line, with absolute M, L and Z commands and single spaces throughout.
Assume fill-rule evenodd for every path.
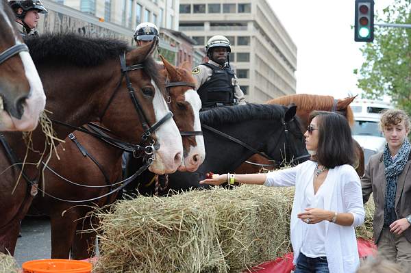
M 279 120 L 284 117 L 282 105 L 254 104 L 223 106 L 200 112 L 201 122 L 207 125 L 242 122 L 245 120 Z

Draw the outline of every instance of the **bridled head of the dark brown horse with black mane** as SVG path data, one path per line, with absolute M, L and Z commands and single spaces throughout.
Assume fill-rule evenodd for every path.
M 121 120 L 129 120 L 126 127 L 121 128 L 121 135 L 134 142 L 139 140 L 138 143 L 147 145 L 146 148 L 152 146 L 155 155 L 149 170 L 164 174 L 175 172 L 180 166 L 183 147 L 182 138 L 162 95 L 164 83 L 158 77 L 158 66 L 151 57 L 156 48 L 155 40 L 125 54 L 125 61 L 121 62 L 125 79 L 119 90 L 111 95 L 101 121 L 104 124 L 108 120 L 112 125 Z M 131 116 L 135 116 L 137 120 L 130 122 Z M 114 130 L 113 132 L 116 133 Z M 149 151 L 151 152 L 153 151 Z

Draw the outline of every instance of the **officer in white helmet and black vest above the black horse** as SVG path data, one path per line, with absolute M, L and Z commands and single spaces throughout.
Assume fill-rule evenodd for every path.
M 209 61 L 192 70 L 203 108 L 245 104 L 244 93 L 229 65 L 229 40 L 222 35 L 212 36 L 206 44 L 206 51 Z

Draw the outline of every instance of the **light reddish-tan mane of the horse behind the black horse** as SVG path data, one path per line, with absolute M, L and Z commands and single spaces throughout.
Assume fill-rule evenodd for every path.
M 329 111 L 334 103 L 334 96 L 321 96 L 314 94 L 291 94 L 288 96 L 279 96 L 276 99 L 267 101 L 268 104 L 289 105 L 295 103 L 298 109 L 303 110 L 325 110 Z

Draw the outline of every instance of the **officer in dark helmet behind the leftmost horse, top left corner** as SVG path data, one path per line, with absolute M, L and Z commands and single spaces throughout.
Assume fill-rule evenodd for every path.
M 38 35 L 35 31 L 39 13 L 46 14 L 47 9 L 40 0 L 9 1 L 9 5 L 16 14 L 16 27 L 21 36 Z

